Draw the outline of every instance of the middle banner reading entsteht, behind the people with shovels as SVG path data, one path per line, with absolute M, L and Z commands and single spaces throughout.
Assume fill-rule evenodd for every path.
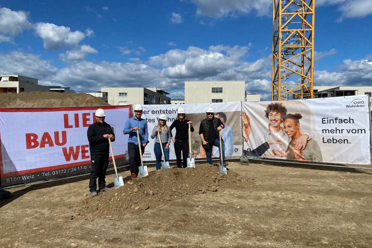
M 212 107 L 214 112 L 225 115 L 225 128 L 222 129 L 222 139 L 225 141 L 225 156 L 241 156 L 241 102 L 230 103 L 197 103 L 197 104 L 166 104 L 166 105 L 143 105 L 142 118 L 147 120 L 148 136 L 150 143 L 146 146 L 144 152 L 144 160 L 154 161 L 154 142 L 150 135 L 154 126 L 158 123 L 160 114 L 167 116 L 167 126 L 171 126 L 172 122 L 177 118 L 177 109 L 182 107 L 186 112 L 186 119 L 192 121 L 194 132 L 191 133 L 191 151 L 192 156 L 196 158 L 205 158 L 205 152 L 201 152 L 201 138 L 199 136 L 199 125 L 201 120 L 206 118 L 206 109 Z M 221 118 L 221 117 L 220 117 Z M 176 129 L 172 130 L 173 136 L 176 134 Z M 164 141 L 163 141 L 164 142 Z M 176 159 L 174 154 L 173 141 L 170 143 L 169 159 Z M 203 150 L 203 149 L 202 149 Z M 213 147 L 213 155 L 219 157 L 219 150 Z

